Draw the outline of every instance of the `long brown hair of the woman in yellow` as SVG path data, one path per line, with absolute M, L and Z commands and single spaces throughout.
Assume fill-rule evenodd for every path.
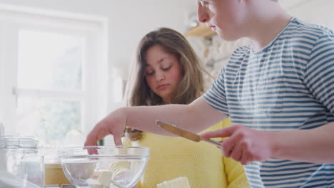
M 131 88 L 128 105 L 164 105 L 163 99 L 153 93 L 145 79 L 146 52 L 156 45 L 161 46 L 166 53 L 176 56 L 181 64 L 183 78 L 172 94 L 171 103 L 189 104 L 201 96 L 204 85 L 203 73 L 206 73 L 206 71 L 202 68 L 195 51 L 178 31 L 171 28 L 158 28 L 156 31 L 147 33 L 138 45 L 136 80 L 133 83 L 133 88 Z M 129 140 L 138 140 L 141 138 L 141 131 L 127 127 L 125 135 Z

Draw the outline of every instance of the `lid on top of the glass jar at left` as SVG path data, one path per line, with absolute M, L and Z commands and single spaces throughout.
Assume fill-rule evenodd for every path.
M 37 149 L 38 141 L 33 136 L 0 136 L 0 149 Z

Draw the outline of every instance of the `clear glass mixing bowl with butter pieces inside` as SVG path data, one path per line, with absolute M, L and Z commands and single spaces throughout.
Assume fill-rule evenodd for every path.
M 80 188 L 133 187 L 149 159 L 148 147 L 64 147 L 59 151 L 67 179 Z

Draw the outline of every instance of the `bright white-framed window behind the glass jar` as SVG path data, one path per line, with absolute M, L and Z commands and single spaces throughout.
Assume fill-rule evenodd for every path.
M 82 145 L 106 113 L 107 22 L 0 5 L 0 122 L 42 146 Z

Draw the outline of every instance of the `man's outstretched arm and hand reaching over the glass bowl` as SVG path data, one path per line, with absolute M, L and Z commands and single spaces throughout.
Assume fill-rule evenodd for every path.
M 186 130 L 200 132 L 225 119 L 227 116 L 212 108 L 203 98 L 189 105 L 138 106 L 120 108 L 109 114 L 88 134 L 85 145 L 96 145 L 106 135 L 113 135 L 116 145 L 121 145 L 125 126 L 160 135 L 171 133 L 158 127 L 156 120 L 171 122 Z

